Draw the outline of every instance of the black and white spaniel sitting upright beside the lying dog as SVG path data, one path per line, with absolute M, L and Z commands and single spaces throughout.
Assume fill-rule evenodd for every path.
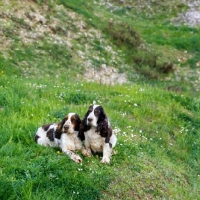
M 102 152 L 101 163 L 109 164 L 117 137 L 112 133 L 110 122 L 102 106 L 93 103 L 89 107 L 81 122 L 79 132 L 82 138 L 85 137 L 85 148 L 82 149 L 82 154 L 91 156 L 92 152 Z

